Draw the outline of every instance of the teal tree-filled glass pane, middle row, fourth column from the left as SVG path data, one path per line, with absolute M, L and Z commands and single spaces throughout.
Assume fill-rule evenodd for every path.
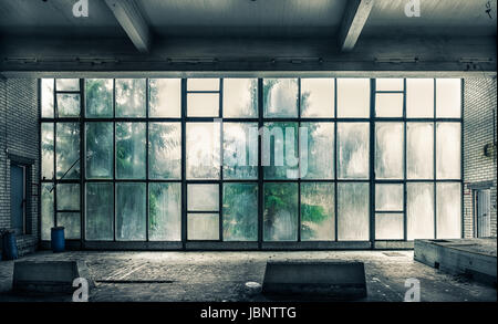
M 145 178 L 145 123 L 116 123 L 116 176 Z

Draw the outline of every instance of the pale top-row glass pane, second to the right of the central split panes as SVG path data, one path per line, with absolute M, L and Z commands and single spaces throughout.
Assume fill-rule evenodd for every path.
M 263 80 L 264 117 L 298 117 L 298 80 Z

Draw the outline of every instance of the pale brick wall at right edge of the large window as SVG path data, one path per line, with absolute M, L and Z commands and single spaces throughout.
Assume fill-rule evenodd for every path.
M 492 157 L 484 155 L 484 146 L 494 143 L 496 118 L 496 79 L 466 79 L 464 101 L 464 236 L 474 237 L 474 206 L 470 187 L 491 181 L 491 234 L 496 237 L 496 149 Z M 495 139 L 496 142 L 496 139 Z

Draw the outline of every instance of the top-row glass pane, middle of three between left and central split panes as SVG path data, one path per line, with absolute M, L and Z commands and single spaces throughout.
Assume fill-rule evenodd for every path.
M 145 117 L 145 79 L 116 79 L 116 117 Z

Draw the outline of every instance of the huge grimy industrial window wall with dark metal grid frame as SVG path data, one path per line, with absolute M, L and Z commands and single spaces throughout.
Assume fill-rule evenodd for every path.
M 459 238 L 461 86 L 43 79 L 41 240 L 54 226 L 178 249 Z

